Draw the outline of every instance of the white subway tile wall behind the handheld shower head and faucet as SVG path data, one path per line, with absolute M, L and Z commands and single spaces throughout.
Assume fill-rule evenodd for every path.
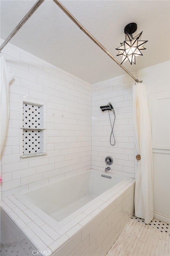
M 139 79 L 138 72 L 132 73 Z M 105 157 L 113 158 L 109 172 L 134 178 L 137 170 L 133 131 L 132 85 L 129 75 L 115 77 L 92 85 L 92 169 L 104 171 Z M 111 125 L 108 111 L 100 106 L 111 102 L 116 119 L 114 135 L 116 144 L 110 145 Z M 113 124 L 114 115 L 110 112 Z M 112 139 L 113 143 L 113 139 Z

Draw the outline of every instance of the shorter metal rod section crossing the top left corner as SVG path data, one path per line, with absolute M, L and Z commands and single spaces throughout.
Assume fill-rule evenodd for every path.
M 11 34 L 5 39 L 5 41 L 0 46 L 0 51 L 6 44 L 10 41 L 10 39 L 16 34 L 16 32 L 24 25 L 24 23 L 31 17 L 31 15 L 37 10 L 37 8 L 44 2 L 44 0 L 39 0 L 32 6 L 32 8 L 28 11 L 28 13 L 24 16 L 24 18 L 19 22 L 19 24 L 15 27 L 15 29 L 11 32 Z

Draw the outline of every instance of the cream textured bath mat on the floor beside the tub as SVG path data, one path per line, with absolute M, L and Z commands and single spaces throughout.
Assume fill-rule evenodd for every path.
M 142 219 L 131 218 L 107 256 L 169 256 L 170 237 L 156 224 L 145 225 Z M 155 220 L 154 220 L 155 221 Z M 152 220 L 152 223 L 154 223 Z M 158 220 L 159 222 L 159 220 Z M 157 219 L 155 223 L 158 223 Z M 160 223 L 160 222 L 159 222 Z M 165 222 L 163 222 L 164 224 Z M 165 225 L 163 225 L 164 227 Z M 167 225 L 169 226 L 169 225 Z

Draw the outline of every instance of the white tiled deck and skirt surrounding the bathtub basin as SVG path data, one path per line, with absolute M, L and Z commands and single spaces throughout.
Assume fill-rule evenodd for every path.
M 41 255 L 52 256 L 106 255 L 133 216 L 134 188 L 135 179 L 131 178 L 117 186 L 114 196 L 110 195 L 107 201 L 60 237 L 36 215 L 28 217 L 24 214 L 22 209 L 25 206 L 14 196 L 10 197 L 11 200 L 2 199 L 1 240 L 5 256 L 32 256 L 37 255 L 36 250 L 41 251 Z M 17 212 L 12 210 L 15 208 L 18 208 Z M 36 234 L 29 223 L 39 226 Z

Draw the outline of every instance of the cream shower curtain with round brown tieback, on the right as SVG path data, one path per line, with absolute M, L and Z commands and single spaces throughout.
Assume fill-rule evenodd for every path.
M 141 155 L 135 184 L 135 216 L 148 224 L 154 217 L 152 134 L 145 85 L 132 87 L 135 146 Z

